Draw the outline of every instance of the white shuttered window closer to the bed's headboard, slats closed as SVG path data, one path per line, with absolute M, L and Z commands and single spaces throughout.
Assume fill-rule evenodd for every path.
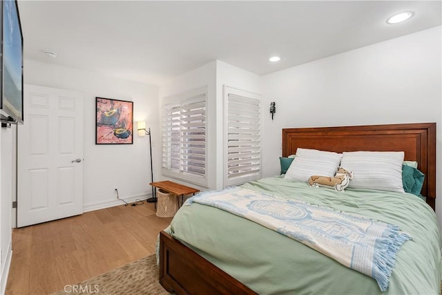
M 224 186 L 261 177 L 260 96 L 226 87 L 227 173 Z

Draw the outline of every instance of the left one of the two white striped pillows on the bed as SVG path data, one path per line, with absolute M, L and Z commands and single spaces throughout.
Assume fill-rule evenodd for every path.
M 285 178 L 307 182 L 311 175 L 334 176 L 340 158 L 342 158 L 340 153 L 298 148 L 295 159 L 285 173 Z

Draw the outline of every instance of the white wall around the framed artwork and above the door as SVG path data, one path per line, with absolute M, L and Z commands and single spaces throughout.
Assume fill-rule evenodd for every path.
M 160 132 L 157 86 L 31 60 L 24 61 L 24 82 L 84 93 L 85 211 L 122 204 L 115 188 L 120 198 L 128 200 L 151 194 L 148 137 L 138 137 L 135 124 L 133 144 L 96 145 L 95 97 L 134 102 L 134 122 L 146 121 L 155 134 Z M 153 146 L 153 158 L 160 158 L 160 144 L 153 140 Z

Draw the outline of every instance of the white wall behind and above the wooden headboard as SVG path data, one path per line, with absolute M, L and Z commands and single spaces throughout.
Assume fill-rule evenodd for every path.
M 441 222 L 441 52 L 439 26 L 263 76 L 264 105 L 276 102 L 275 119 L 263 116 L 263 176 L 279 173 L 282 128 L 436 122 Z

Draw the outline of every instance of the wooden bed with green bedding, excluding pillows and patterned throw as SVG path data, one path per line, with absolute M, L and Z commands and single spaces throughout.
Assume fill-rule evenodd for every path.
M 282 156 L 293 155 L 298 148 L 336 153 L 403 151 L 404 160 L 418 162 L 425 174 L 421 190 L 425 201 L 408 193 L 316 189 L 283 176 L 241 186 L 283 198 L 300 190 L 305 202 L 398 225 L 412 240 L 398 251 L 387 290 L 381 292 L 373 278 L 300 242 L 204 204 L 183 206 L 171 227 L 160 233 L 163 287 L 177 294 L 439 294 L 436 124 L 282 129 Z

